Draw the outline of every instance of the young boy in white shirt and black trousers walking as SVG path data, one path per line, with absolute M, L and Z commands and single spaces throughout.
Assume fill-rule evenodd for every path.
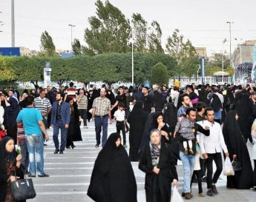
M 116 119 L 116 132 L 120 134 L 120 130 L 122 130 L 122 138 L 123 138 L 123 147 L 127 147 L 126 145 L 126 135 L 125 135 L 125 104 L 119 102 L 118 110 L 114 112 L 114 118 L 112 122 Z

